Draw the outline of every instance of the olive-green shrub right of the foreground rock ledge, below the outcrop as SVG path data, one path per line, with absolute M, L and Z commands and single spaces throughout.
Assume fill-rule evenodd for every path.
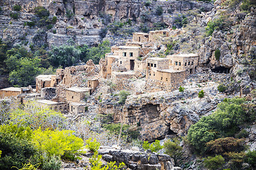
M 170 155 L 174 159 L 175 164 L 178 164 L 179 160 L 182 159 L 182 147 L 178 145 L 178 140 L 174 140 L 174 142 L 166 140 L 164 142 L 164 149 L 166 150 L 164 153 Z

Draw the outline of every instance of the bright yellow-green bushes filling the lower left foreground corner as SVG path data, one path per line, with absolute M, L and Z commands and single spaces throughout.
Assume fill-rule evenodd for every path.
M 84 146 L 74 131 L 63 130 L 63 115 L 50 109 L 30 103 L 6 116 L 9 123 L 0 126 L 0 169 L 40 165 L 42 170 L 58 170 L 60 158 L 74 161 Z

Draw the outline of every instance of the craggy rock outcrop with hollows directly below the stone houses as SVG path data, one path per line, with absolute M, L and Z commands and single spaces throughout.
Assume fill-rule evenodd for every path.
M 217 79 L 217 76 L 219 78 Z M 166 135 L 186 135 L 188 128 L 196 123 L 202 115 L 215 111 L 218 103 L 226 96 L 217 90 L 215 81 L 228 80 L 228 74 L 202 75 L 193 78 L 201 82 L 201 87 L 187 85 L 186 91 L 151 92 L 128 96 L 124 106 L 120 106 L 117 97 L 103 98 L 99 103 L 99 113 L 113 114 L 114 122 L 132 125 L 140 132 L 139 138 L 150 142 L 164 138 Z M 188 84 L 191 84 L 188 80 Z M 199 83 L 198 83 L 199 84 Z M 198 91 L 205 91 L 204 98 L 198 98 Z

